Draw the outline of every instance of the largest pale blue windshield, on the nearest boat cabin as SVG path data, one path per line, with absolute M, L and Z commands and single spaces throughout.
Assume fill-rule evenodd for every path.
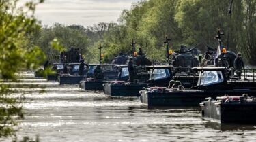
M 223 82 L 223 75 L 221 71 L 204 71 L 200 73 L 197 86 L 209 86 Z

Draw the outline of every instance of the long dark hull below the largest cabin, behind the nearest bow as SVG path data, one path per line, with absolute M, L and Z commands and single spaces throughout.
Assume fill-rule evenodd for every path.
M 248 91 L 231 91 L 231 90 L 218 90 L 212 92 L 200 92 L 200 91 L 186 91 L 186 92 L 167 92 L 167 93 L 152 93 L 147 90 L 141 90 L 141 102 L 147 104 L 149 107 L 188 107 L 199 106 L 199 103 L 204 101 L 205 98 L 211 97 L 215 99 L 217 96 L 224 96 L 225 94 L 231 94 L 233 96 L 241 96 L 242 94 L 248 94 L 250 96 L 256 96 L 256 90 Z

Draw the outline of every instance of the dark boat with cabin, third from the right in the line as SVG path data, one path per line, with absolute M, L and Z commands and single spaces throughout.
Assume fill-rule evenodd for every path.
M 171 65 L 156 65 L 156 66 L 147 66 L 145 67 L 146 74 L 148 77 L 146 79 L 141 79 L 141 81 L 130 84 L 125 81 L 112 81 L 104 84 L 104 94 L 109 96 L 140 96 L 139 91 L 143 88 L 147 88 L 149 86 L 169 86 L 169 82 L 171 79 L 184 79 L 184 83 L 188 85 L 192 85 L 193 77 L 190 77 L 186 73 L 175 73 L 175 68 Z M 185 69 L 185 67 L 184 67 Z M 189 69 L 189 68 L 187 68 Z M 174 75 L 177 74 L 177 75 Z M 186 74 L 186 75 L 185 75 Z M 122 69 L 121 76 L 128 77 L 127 68 Z M 185 82 L 186 80 L 186 82 Z

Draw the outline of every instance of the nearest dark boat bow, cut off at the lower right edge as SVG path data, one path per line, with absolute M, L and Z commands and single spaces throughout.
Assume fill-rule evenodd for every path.
M 204 119 L 220 123 L 256 124 L 256 98 L 243 96 L 221 96 L 207 98 L 200 103 Z

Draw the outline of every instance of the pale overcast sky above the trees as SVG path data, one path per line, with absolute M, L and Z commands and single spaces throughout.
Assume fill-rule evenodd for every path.
M 79 24 L 92 26 L 98 22 L 117 22 L 122 10 L 139 0 L 45 0 L 35 16 L 43 25 Z

